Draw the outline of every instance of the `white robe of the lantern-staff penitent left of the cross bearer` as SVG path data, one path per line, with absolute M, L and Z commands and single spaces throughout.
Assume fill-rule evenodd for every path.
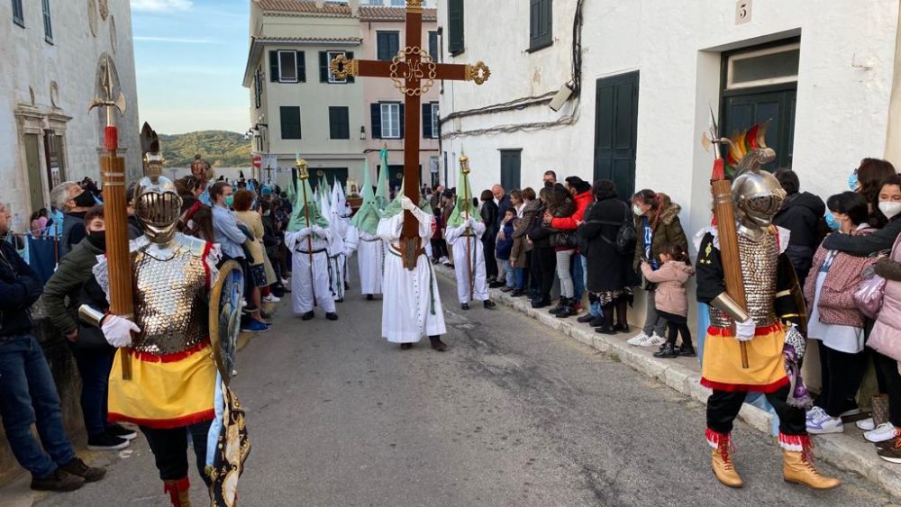
M 318 229 L 318 231 L 314 231 Z M 307 241 L 307 238 L 310 241 Z M 312 250 L 310 249 L 312 243 Z M 327 228 L 307 227 L 285 233 L 285 246 L 291 250 L 291 299 L 294 312 L 311 312 L 315 305 L 325 312 L 335 312 L 335 300 L 329 286 L 329 246 L 332 232 Z M 313 252 L 313 264 L 310 264 Z M 314 297 L 315 295 L 315 297 Z

